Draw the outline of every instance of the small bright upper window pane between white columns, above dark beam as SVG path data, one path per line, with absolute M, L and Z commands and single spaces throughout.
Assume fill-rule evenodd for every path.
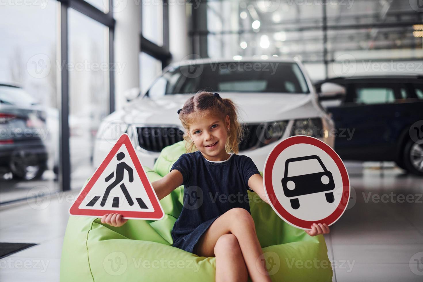
M 143 1 L 142 33 L 151 42 L 163 45 L 163 7 L 162 1 Z

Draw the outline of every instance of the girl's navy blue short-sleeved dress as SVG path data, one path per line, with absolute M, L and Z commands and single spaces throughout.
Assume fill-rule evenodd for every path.
M 173 164 L 184 178 L 184 206 L 172 230 L 173 246 L 193 252 L 201 235 L 231 208 L 250 213 L 247 190 L 251 175 L 260 174 L 253 160 L 231 153 L 229 159 L 211 162 L 200 151 L 184 153 Z

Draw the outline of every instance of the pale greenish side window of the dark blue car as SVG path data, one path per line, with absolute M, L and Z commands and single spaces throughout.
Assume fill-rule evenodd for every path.
M 395 101 L 394 90 L 392 88 L 357 88 L 357 104 L 385 104 Z

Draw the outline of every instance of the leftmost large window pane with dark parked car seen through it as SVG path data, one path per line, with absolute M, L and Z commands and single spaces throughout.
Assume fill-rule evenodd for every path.
M 60 188 L 55 181 L 59 4 L 15 4 L 0 8 L 0 203 L 43 197 Z

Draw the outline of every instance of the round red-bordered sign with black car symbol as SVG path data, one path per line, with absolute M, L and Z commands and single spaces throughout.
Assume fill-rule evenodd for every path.
M 264 164 L 264 189 L 273 210 L 289 224 L 311 230 L 335 223 L 348 205 L 345 165 L 326 143 L 293 136 L 280 141 Z

